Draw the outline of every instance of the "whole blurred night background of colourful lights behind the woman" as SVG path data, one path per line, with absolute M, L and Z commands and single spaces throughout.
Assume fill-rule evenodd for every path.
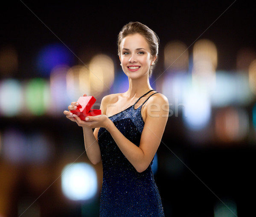
M 166 216 L 254 216 L 255 9 L 244 1 L 13 1 L 1 7 L 0 217 L 96 217 L 102 165 L 63 110 L 128 81 L 116 37 L 160 38 L 151 86 L 170 114 L 154 161 Z

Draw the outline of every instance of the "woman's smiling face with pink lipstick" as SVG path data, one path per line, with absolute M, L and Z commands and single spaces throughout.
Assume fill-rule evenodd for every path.
M 151 58 L 149 45 L 142 35 L 126 36 L 120 43 L 119 50 L 122 69 L 129 78 L 148 75 L 155 59 Z

